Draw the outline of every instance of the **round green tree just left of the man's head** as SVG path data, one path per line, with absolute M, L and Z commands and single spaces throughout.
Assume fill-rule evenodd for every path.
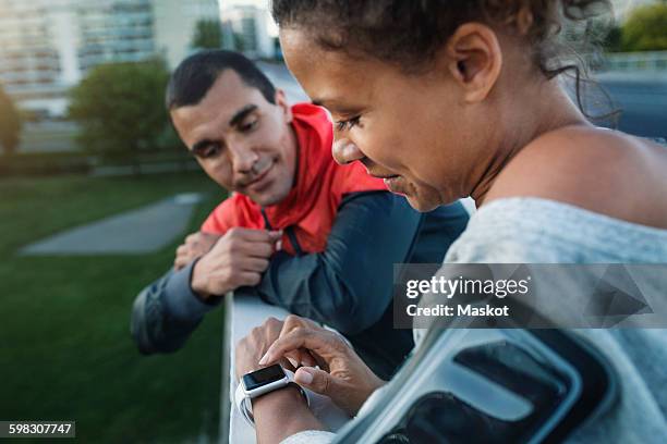
M 72 90 L 69 112 L 82 126 L 78 143 L 94 152 L 137 161 L 141 150 L 156 147 L 167 125 L 168 79 L 160 60 L 93 69 Z

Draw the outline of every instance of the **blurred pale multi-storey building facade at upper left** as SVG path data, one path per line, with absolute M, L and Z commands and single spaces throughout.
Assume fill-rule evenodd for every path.
M 66 113 L 66 92 L 93 67 L 191 51 L 216 0 L 0 0 L 0 84 L 24 110 Z

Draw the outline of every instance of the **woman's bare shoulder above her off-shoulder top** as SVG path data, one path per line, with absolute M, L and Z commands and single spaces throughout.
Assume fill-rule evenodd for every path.
M 593 126 L 546 133 L 507 164 L 485 203 L 538 197 L 667 229 L 667 148 Z

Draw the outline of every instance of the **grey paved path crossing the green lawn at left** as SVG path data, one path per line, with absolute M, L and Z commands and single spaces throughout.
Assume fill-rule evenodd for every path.
M 21 255 L 144 255 L 182 236 L 202 197 L 181 194 L 88 225 L 68 230 L 21 249 Z

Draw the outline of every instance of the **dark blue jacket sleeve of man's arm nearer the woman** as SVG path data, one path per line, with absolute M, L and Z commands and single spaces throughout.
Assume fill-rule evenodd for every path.
M 259 285 L 239 291 L 341 333 L 360 332 L 387 309 L 392 264 L 409 257 L 421 220 L 403 197 L 388 192 L 348 195 L 323 252 L 278 252 Z

